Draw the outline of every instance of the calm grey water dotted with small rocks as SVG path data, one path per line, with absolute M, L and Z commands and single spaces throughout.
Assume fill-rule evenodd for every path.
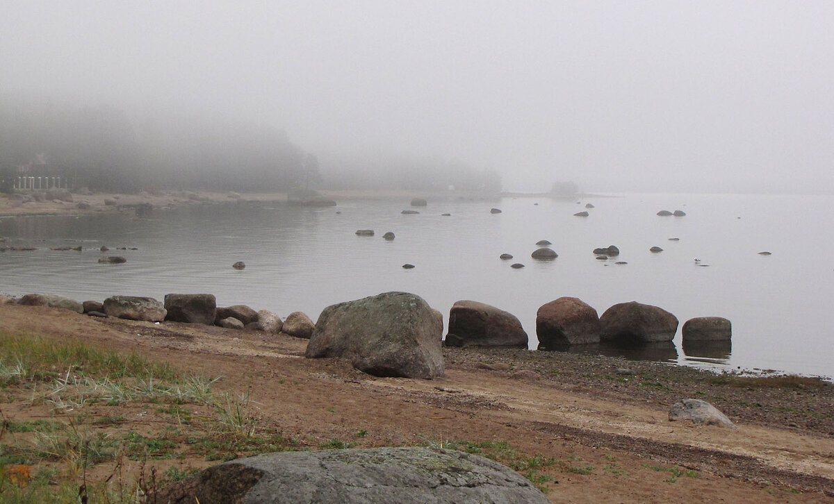
M 595 205 L 590 217 L 574 217 L 585 202 Z M 531 348 L 537 346 L 535 312 L 545 302 L 579 297 L 601 315 L 615 303 L 638 301 L 674 313 L 681 326 L 691 317 L 729 318 L 732 345 L 684 348 L 679 330 L 674 345 L 629 357 L 834 376 L 834 266 L 827 253 L 834 250 L 834 197 L 630 194 L 581 203 L 450 199 L 430 201 L 416 215 L 400 213 L 408 201 L 324 209 L 240 203 L 157 211 L 149 218 L 0 219 L 7 245 L 38 247 L 0 254 L 0 291 L 99 301 L 115 294 L 161 300 L 171 292 L 210 292 L 219 305 L 247 304 L 284 317 L 301 311 L 314 320 L 335 302 L 406 291 L 424 297 L 447 321 L 462 299 L 511 312 Z M 503 212 L 491 214 L 490 207 Z M 656 216 L 662 209 L 687 215 Z M 357 229 L 374 229 L 376 236 L 358 237 Z M 382 238 L 387 231 L 396 234 L 394 241 Z M 553 242 L 554 261 L 530 258 L 542 239 Z M 620 247 L 616 260 L 627 264 L 591 253 L 611 244 Z M 84 250 L 49 250 L 61 245 Z M 102 245 L 138 250 L 99 252 Z M 652 246 L 664 250 L 649 252 Z M 763 251 L 772 255 L 758 254 Z M 515 259 L 500 260 L 504 252 Z M 128 262 L 98 264 L 98 257 L 114 254 Z M 246 269 L 232 269 L 237 261 Z M 414 269 L 403 269 L 406 262 Z M 513 262 L 526 267 L 512 269 Z

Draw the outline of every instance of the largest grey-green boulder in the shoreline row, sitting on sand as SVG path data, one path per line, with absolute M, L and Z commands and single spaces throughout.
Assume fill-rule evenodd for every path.
M 304 357 L 344 357 L 378 377 L 444 374 L 443 317 L 422 297 L 384 292 L 324 308 Z

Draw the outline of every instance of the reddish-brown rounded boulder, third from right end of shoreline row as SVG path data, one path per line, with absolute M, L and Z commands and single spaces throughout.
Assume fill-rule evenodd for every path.
M 545 303 L 535 314 L 539 349 L 600 342 L 600 316 L 576 297 L 560 297 Z

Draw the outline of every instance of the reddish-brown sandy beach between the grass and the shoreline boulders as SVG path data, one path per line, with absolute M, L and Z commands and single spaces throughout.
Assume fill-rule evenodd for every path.
M 668 384 L 670 390 L 657 395 L 656 387 L 605 378 L 605 370 L 622 365 L 606 357 L 451 349 L 443 378 L 378 378 L 339 360 L 304 359 L 306 341 L 284 335 L 96 319 L 18 305 L 0 305 L 0 330 L 83 340 L 222 376 L 224 386 L 251 391 L 262 426 L 302 446 L 333 439 L 352 439 L 360 447 L 506 442 L 525 456 L 559 461 L 543 469 L 555 478 L 545 483 L 553 502 L 834 502 L 831 419 L 817 407 L 830 407 L 825 388 L 801 391 L 808 401 L 798 404 L 796 391 L 705 386 L 690 378 L 700 377 L 691 370 L 680 370 L 679 385 L 665 375 L 649 376 L 649 364 L 636 365 L 642 377 L 633 382 Z M 598 371 L 595 378 L 587 376 L 589 365 Z M 667 368 L 656 373 L 678 372 Z M 819 410 L 816 427 L 792 427 L 796 418 L 781 422 L 781 412 L 762 417 L 756 411 L 761 408 L 749 414 L 731 408 L 736 429 L 668 422 L 671 397 L 688 397 L 679 394 L 699 388 L 706 390 L 702 396 L 743 394 L 745 403 L 769 407 L 784 401 L 797 412 L 813 408 Z M 359 438 L 357 432 L 367 435 Z

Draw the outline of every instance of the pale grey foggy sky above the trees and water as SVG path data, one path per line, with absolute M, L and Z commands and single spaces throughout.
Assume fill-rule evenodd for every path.
M 830 0 L 0 0 L 0 91 L 22 90 L 513 190 L 834 192 Z

